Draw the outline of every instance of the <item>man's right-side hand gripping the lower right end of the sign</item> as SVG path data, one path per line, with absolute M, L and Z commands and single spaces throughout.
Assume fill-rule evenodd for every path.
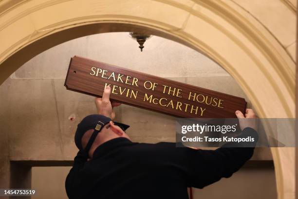
M 235 114 L 239 119 L 239 125 L 241 130 L 245 129 L 246 127 L 250 127 L 257 131 L 257 117 L 252 109 L 246 109 L 245 117 L 241 111 L 236 111 Z

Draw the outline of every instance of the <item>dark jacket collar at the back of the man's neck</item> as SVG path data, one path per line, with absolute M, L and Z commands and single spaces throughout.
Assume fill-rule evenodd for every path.
M 93 152 L 93 159 L 97 159 L 99 157 L 104 156 L 109 151 L 112 151 L 115 148 L 132 145 L 134 144 L 127 138 L 115 138 L 109 141 L 104 142 L 103 144 L 99 145 Z

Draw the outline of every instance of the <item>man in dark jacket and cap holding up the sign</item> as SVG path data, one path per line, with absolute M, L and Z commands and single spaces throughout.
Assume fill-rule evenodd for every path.
M 203 188 L 228 178 L 251 158 L 254 148 L 227 143 L 217 150 L 135 143 L 128 125 L 113 122 L 111 88 L 95 99 L 98 115 L 84 118 L 75 133 L 79 152 L 66 182 L 70 199 L 188 199 L 187 187 Z M 244 118 L 236 111 L 238 118 Z M 255 118 L 251 109 L 245 118 Z M 258 139 L 255 119 L 240 120 L 241 136 Z M 234 148 L 233 148 L 234 147 Z

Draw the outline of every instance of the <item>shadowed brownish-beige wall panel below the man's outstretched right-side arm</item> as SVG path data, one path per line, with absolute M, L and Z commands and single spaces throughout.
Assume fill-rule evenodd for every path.
M 273 168 L 242 168 L 231 178 L 204 189 L 194 189 L 194 199 L 276 199 Z

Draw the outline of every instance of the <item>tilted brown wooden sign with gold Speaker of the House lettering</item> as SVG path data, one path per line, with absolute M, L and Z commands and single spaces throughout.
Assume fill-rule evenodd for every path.
M 182 118 L 235 118 L 244 112 L 243 98 L 159 78 L 81 57 L 71 59 L 68 90 L 101 97 L 111 86 L 110 100 Z

